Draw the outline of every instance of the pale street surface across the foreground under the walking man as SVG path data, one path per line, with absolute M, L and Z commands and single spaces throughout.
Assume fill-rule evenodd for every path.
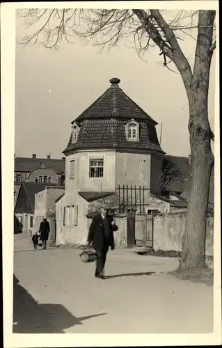
M 79 250 L 15 235 L 14 333 L 209 333 L 213 287 L 168 276 L 177 259 L 109 251 L 106 280 Z

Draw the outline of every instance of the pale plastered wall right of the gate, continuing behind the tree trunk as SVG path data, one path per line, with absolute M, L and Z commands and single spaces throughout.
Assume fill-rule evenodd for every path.
M 154 250 L 182 251 L 186 212 L 154 216 Z M 214 254 L 214 216 L 207 217 L 206 254 Z

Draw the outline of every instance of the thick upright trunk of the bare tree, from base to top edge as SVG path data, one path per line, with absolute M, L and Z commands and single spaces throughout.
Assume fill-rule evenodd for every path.
M 192 185 L 179 271 L 205 267 L 209 182 L 214 163 L 208 120 L 209 70 L 212 61 L 214 11 L 199 11 L 193 79 L 187 88 Z

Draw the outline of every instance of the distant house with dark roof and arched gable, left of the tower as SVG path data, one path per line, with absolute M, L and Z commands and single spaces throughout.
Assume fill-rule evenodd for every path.
M 65 182 L 65 157 L 62 159 L 37 158 L 35 154 L 29 157 L 15 156 L 14 169 L 14 206 L 22 182 L 44 184 L 59 184 Z

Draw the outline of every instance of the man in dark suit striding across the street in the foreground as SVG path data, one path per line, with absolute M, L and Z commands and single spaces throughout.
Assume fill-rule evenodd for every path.
M 111 208 L 102 207 L 100 213 L 93 216 L 93 221 L 88 232 L 88 244 L 92 244 L 97 253 L 95 277 L 104 279 L 104 266 L 106 255 L 111 246 L 115 248 L 113 231 L 118 230 L 118 226 L 113 221 Z

